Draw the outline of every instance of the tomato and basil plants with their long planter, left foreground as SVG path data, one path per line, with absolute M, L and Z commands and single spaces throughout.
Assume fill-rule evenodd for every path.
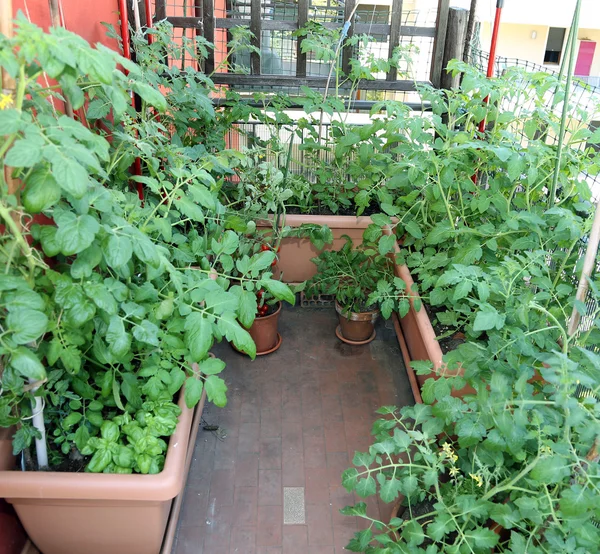
M 237 237 L 209 173 L 227 158 L 199 164 L 198 149 L 170 144 L 157 114 L 177 98 L 114 52 L 25 20 L 2 50 L 17 88 L 0 111 L 0 425 L 16 426 L 26 471 L 3 470 L 0 495 L 46 554 L 158 552 L 185 483 L 194 407 L 226 402 L 225 364 L 209 350 L 226 337 L 254 356 L 226 279 L 191 267 L 206 263 L 206 243 L 223 255 Z M 54 111 L 40 71 L 75 109 L 93 99 L 98 133 Z M 139 114 L 128 112 L 130 88 Z M 142 152 L 144 203 L 127 171 Z M 32 224 L 39 212 L 46 219 Z M 191 226 L 202 237 L 193 244 Z

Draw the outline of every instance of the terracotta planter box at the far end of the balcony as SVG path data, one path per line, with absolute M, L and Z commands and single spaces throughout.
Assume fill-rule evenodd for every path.
M 327 225 L 333 233 L 333 243 L 328 244 L 324 250 L 339 250 L 345 243 L 342 235 L 348 235 L 355 245 L 362 242 L 364 230 L 372 223 L 368 216 L 356 217 L 353 215 L 287 215 L 285 225 L 293 228 L 306 223 Z M 271 226 L 263 222 L 258 223 L 259 229 L 270 229 Z M 313 246 L 309 239 L 286 238 L 281 241 L 278 267 L 282 272 L 285 283 L 301 283 L 310 279 L 317 268 L 310 260 L 319 255 L 321 250 Z

